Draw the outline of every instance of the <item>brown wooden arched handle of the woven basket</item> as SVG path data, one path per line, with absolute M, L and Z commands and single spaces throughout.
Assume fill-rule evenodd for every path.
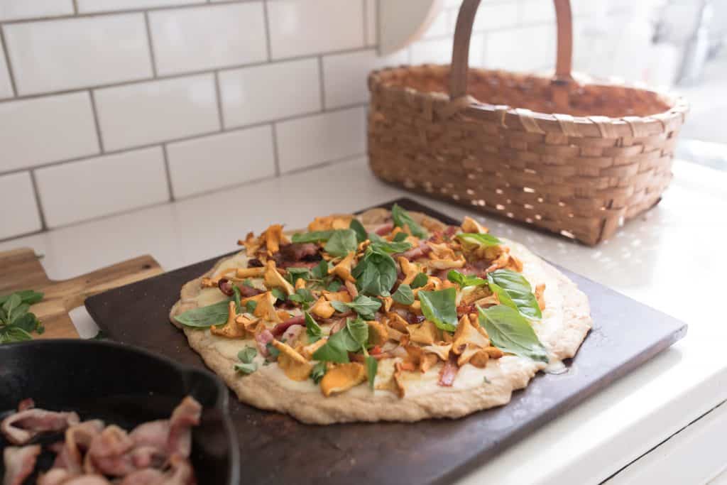
M 569 0 L 553 0 L 555 21 L 558 24 L 558 57 L 553 77 L 553 101 L 556 105 L 568 103 L 568 86 L 573 81 L 571 60 L 573 57 L 573 19 Z M 465 0 L 459 8 L 457 27 L 454 29 L 449 97 L 457 100 L 467 95 L 467 72 L 470 70 L 470 38 L 480 0 Z

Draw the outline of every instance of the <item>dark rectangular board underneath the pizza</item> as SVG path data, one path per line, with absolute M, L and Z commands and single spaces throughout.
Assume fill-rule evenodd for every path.
M 458 223 L 411 199 L 396 202 L 446 223 Z M 204 368 L 184 334 L 169 323 L 169 308 L 179 299 L 182 284 L 209 270 L 217 259 L 97 294 L 87 300 L 86 308 L 113 340 Z M 686 334 L 683 322 L 560 269 L 588 295 L 594 320 L 578 355 L 565 362 L 567 372 L 538 374 L 506 406 L 459 420 L 414 423 L 304 425 L 284 414 L 242 404 L 230 393 L 230 417 L 240 444 L 245 483 L 448 484 Z

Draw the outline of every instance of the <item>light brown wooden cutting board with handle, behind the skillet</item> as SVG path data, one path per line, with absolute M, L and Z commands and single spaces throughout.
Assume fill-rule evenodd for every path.
M 0 252 L 0 268 L 0 294 L 23 289 L 44 293 L 43 300 L 31 306 L 45 326 L 39 338 L 78 338 L 68 312 L 83 305 L 87 297 L 164 273 L 159 263 L 145 254 L 76 278 L 54 281 L 28 247 Z

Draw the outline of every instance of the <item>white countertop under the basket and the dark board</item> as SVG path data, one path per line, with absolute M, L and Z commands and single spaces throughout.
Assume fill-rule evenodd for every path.
M 172 270 L 236 249 L 247 231 L 270 223 L 303 227 L 313 215 L 351 212 L 403 195 L 453 217 L 473 215 L 466 207 L 379 182 L 362 158 L 6 241 L 0 250 L 31 246 L 45 254 L 43 265 L 57 279 L 147 253 Z M 462 484 L 597 483 L 727 400 L 727 318 L 721 308 L 727 299 L 721 286 L 727 270 L 727 172 L 677 161 L 662 203 L 595 249 L 482 219 L 493 233 L 670 313 L 689 329 L 684 340 L 511 446 Z M 81 336 L 95 334 L 85 310 L 72 317 Z M 651 468 L 663 473 L 664 467 L 683 465 L 664 462 Z M 614 481 L 629 483 L 626 475 Z

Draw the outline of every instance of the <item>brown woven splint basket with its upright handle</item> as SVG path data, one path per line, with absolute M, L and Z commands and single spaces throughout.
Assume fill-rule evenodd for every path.
M 567 0 L 555 0 L 552 79 L 470 70 L 479 3 L 465 0 L 459 10 L 451 69 L 369 76 L 371 169 L 414 191 L 598 244 L 659 202 L 687 105 L 647 89 L 574 81 Z

